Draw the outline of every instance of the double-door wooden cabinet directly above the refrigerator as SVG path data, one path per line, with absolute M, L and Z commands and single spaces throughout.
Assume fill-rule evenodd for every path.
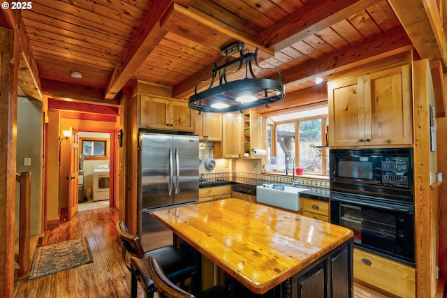
M 169 131 L 193 131 L 193 115 L 184 100 L 140 95 L 139 126 Z

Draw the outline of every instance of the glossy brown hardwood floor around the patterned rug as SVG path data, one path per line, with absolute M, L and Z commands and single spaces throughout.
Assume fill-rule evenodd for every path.
M 80 211 L 70 222 L 46 231 L 43 245 L 87 237 L 94 262 L 43 276 L 31 281 L 17 281 L 15 298 L 124 298 L 130 297 L 130 274 L 121 258 L 116 241 L 115 208 Z M 138 297 L 145 297 L 138 288 Z M 356 285 L 355 298 L 383 298 L 367 288 Z

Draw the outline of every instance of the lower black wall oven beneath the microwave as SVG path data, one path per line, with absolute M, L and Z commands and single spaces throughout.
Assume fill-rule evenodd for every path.
M 330 192 L 331 222 L 354 232 L 354 246 L 414 266 L 414 206 Z

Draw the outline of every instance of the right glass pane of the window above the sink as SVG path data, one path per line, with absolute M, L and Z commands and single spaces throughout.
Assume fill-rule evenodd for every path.
M 323 174 L 321 158 L 321 119 L 300 121 L 300 162 L 299 165 L 308 174 Z M 323 158 L 324 159 L 324 158 Z

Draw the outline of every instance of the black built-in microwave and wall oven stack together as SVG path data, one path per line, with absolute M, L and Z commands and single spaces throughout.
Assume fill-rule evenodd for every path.
M 331 150 L 330 221 L 356 247 L 414 266 L 412 149 Z

